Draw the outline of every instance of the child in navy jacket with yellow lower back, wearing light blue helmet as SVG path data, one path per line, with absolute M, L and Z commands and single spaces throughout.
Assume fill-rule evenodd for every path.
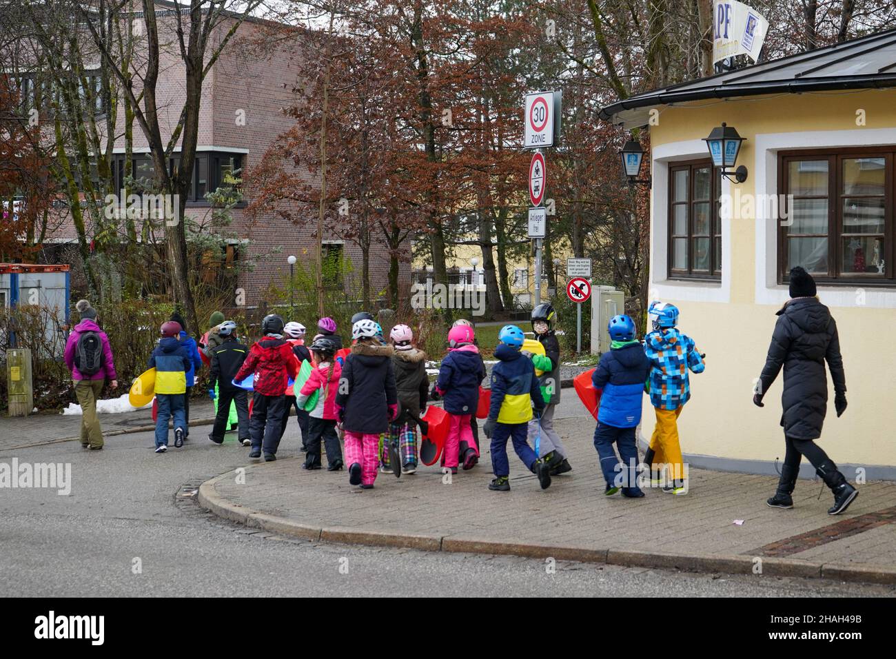
M 483 430 L 492 440 L 492 471 L 495 480 L 488 485 L 489 490 L 506 492 L 510 490 L 510 464 L 507 462 L 507 439 L 513 441 L 513 450 L 519 455 L 530 472 L 538 475 L 541 489 L 550 487 L 550 465 L 539 459 L 529 447 L 529 421 L 532 406 L 538 416 L 544 412 L 545 401 L 541 397 L 541 387 L 535 375 L 532 360 L 522 353 L 525 335 L 516 325 L 504 325 L 498 333 L 495 357 L 499 360 L 492 369 L 492 403 L 488 408 L 488 419 Z

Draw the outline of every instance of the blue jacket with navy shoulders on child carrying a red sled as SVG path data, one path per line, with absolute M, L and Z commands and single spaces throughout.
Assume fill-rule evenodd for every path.
M 600 357 L 591 382 L 600 395 L 598 421 L 614 428 L 634 428 L 641 421 L 644 383 L 650 360 L 638 341 L 616 344 Z

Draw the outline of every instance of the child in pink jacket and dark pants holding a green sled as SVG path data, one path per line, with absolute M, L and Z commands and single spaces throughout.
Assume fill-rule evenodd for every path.
M 327 452 L 327 471 L 338 472 L 342 468 L 342 449 L 336 434 L 336 394 L 342 368 L 333 359 L 336 344 L 327 337 L 321 337 L 311 344 L 311 363 L 314 370 L 299 391 L 296 403 L 305 409 L 308 399 L 317 393 L 317 404 L 308 415 L 308 452 L 303 469 L 321 468 L 321 439 Z

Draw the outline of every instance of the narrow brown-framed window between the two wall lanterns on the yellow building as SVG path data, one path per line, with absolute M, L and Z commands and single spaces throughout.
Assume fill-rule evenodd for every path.
M 721 277 L 720 188 L 711 160 L 669 166 L 669 277 Z

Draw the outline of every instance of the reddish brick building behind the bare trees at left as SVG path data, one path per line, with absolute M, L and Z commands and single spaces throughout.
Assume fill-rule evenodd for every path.
M 157 6 L 161 6 L 157 3 Z M 135 14 L 140 20 L 142 14 Z M 174 34 L 176 17 L 173 11 L 157 12 L 159 28 L 168 30 L 172 41 L 163 48 L 159 67 L 159 115 L 162 137 L 168 140 L 177 125 L 184 103 L 185 68 L 177 52 Z M 220 23 L 209 52 L 231 27 L 231 22 Z M 309 210 L 306 224 L 296 224 L 282 218 L 276 212 L 264 212 L 251 216 L 246 203 L 251 201 L 252 171 L 260 163 L 263 154 L 275 142 L 277 136 L 293 126 L 282 108 L 292 105 L 296 96 L 293 89 L 300 87 L 304 74 L 303 50 L 311 48 L 295 33 L 280 45 L 259 48 L 257 38 L 279 30 L 280 26 L 255 19 L 246 20 L 237 35 L 224 48 L 220 59 L 211 68 L 203 82 L 202 105 L 199 119 L 194 183 L 187 201 L 186 212 L 195 220 L 211 220 L 211 204 L 204 195 L 215 190 L 228 171 L 240 169 L 244 180 L 246 200 L 234 208 L 233 223 L 228 227 L 228 238 L 223 239 L 224 264 L 250 264 L 251 270 L 237 269 L 237 290 L 245 291 L 242 300 L 248 307 L 264 301 L 269 284 L 280 283 L 289 274 L 288 256 L 296 256 L 299 265 L 314 264 L 316 254 L 316 208 Z M 138 45 L 139 48 L 139 45 Z M 208 59 L 208 55 L 206 56 Z M 124 109 L 119 104 L 118 126 L 124 125 Z M 140 126 L 134 125 L 134 178 L 151 178 L 152 162 L 147 141 Z M 178 160 L 179 147 L 173 160 Z M 116 190 L 122 188 L 125 173 L 125 141 L 116 139 L 113 155 L 113 171 Z M 307 172 L 297 176 L 309 177 Z M 56 230 L 50 242 L 57 247 L 58 258 L 65 258 L 65 244 L 75 241 L 76 234 L 70 223 Z M 324 257 L 330 263 L 340 263 L 339 278 L 334 282 L 353 299 L 359 298 L 361 250 L 351 240 L 340 235 L 338 228 L 324 232 Z M 401 259 L 400 282 L 409 282 L 409 255 Z M 386 247 L 375 244 L 370 255 L 371 290 L 375 295 L 387 286 L 389 257 Z M 236 304 L 239 304 L 237 302 Z

